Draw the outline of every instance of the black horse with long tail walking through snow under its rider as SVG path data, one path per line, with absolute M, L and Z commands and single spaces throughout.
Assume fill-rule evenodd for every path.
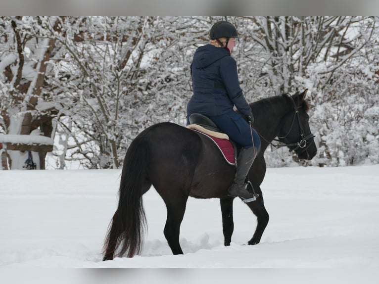
M 248 244 L 259 243 L 269 221 L 260 184 L 266 173 L 263 153 L 276 138 L 299 159 L 310 160 L 316 145 L 308 124 L 307 93 L 280 95 L 250 104 L 254 129 L 261 137 L 261 151 L 254 161 L 249 179 L 259 197 L 246 203 L 257 216 L 257 227 Z M 142 131 L 125 155 L 118 208 L 104 241 L 103 260 L 127 255 L 133 257 L 142 247 L 145 215 L 142 195 L 151 185 L 167 207 L 164 236 L 173 254 L 183 254 L 179 244 L 180 225 L 189 196 L 220 198 L 224 244 L 230 245 L 234 230 L 233 197 L 227 195 L 236 167 L 228 164 L 210 139 L 183 126 L 163 122 Z

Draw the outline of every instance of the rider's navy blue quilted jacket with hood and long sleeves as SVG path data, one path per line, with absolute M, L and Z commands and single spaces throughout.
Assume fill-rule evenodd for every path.
M 210 44 L 199 47 L 191 64 L 193 95 L 187 105 L 187 115 L 220 115 L 237 110 L 251 115 L 238 83 L 237 63 L 230 52 Z

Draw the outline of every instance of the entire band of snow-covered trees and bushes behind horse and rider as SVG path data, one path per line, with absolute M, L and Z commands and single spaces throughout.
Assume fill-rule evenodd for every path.
M 319 151 L 305 165 L 379 162 L 378 17 L 0 17 L 0 135 L 55 137 L 50 168 L 119 168 L 143 129 L 185 124 L 192 56 L 219 20 L 239 32 L 247 101 L 309 89 Z M 270 150 L 269 166 L 301 164 Z M 22 168 L 26 152 L 8 153 Z

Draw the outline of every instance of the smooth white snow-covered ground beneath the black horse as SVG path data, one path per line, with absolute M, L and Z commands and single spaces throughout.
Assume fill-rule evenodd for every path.
M 0 268 L 342 268 L 343 283 L 368 270 L 359 273 L 367 283 L 379 276 L 378 174 L 379 165 L 269 168 L 262 190 L 270 222 L 254 246 L 245 245 L 256 219 L 243 202 L 235 200 L 225 247 L 219 200 L 190 198 L 179 256 L 163 236 L 165 206 L 151 188 L 142 254 L 102 262 L 120 170 L 0 171 Z

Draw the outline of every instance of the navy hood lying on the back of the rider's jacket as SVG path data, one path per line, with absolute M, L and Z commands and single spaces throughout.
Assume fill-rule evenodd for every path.
M 214 47 L 210 44 L 198 47 L 193 55 L 192 67 L 207 67 L 227 55 L 230 55 L 230 52 L 225 48 Z

